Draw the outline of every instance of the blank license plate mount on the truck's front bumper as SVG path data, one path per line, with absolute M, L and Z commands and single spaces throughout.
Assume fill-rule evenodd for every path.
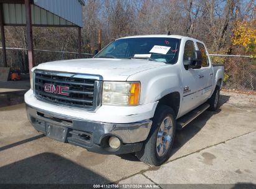
M 46 136 L 57 141 L 65 142 L 67 138 L 67 127 L 57 126 L 54 124 L 46 123 Z

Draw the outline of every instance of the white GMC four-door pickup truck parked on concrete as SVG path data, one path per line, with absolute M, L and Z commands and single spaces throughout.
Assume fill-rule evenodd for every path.
M 32 68 L 27 117 L 52 139 L 161 165 L 176 129 L 218 108 L 223 78 L 224 67 L 212 64 L 199 40 L 124 37 L 93 58 Z

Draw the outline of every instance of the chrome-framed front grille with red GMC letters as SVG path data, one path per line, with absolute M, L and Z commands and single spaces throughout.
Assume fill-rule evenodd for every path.
M 37 99 L 49 103 L 86 108 L 93 111 L 100 105 L 102 81 L 99 76 L 34 71 L 34 92 Z

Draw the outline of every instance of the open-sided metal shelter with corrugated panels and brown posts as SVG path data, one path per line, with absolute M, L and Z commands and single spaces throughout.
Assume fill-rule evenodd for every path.
M 32 26 L 77 27 L 78 57 L 81 57 L 83 0 L 0 0 L 2 62 L 6 67 L 4 25 L 26 26 L 29 70 L 34 67 Z

